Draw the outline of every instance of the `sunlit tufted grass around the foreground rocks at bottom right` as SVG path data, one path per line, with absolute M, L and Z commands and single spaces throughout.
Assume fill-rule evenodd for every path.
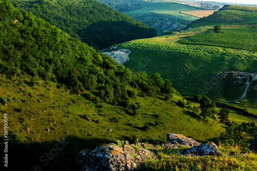
M 239 154 L 241 150 L 223 145 L 219 145 L 218 148 L 223 156 L 185 157 L 178 155 L 180 149 L 159 147 L 159 159 L 146 161 L 139 170 L 256 170 L 255 153 L 249 153 L 249 157 L 231 157 L 229 153 Z

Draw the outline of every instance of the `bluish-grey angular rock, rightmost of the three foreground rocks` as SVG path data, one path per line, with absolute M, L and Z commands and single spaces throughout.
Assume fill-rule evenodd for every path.
M 217 145 L 213 142 L 183 149 L 180 154 L 185 156 L 221 156 Z

